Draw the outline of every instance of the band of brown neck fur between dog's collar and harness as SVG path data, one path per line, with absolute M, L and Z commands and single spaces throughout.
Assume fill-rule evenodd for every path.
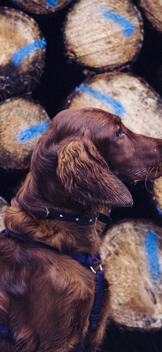
M 56 210 L 66 210 L 57 208 Z M 71 211 L 72 214 L 72 211 Z M 55 219 L 31 218 L 16 207 L 8 207 L 5 213 L 5 225 L 8 232 L 35 241 L 42 241 L 57 247 L 60 251 L 86 252 L 93 256 L 99 251 L 101 240 L 95 224 L 79 225 Z

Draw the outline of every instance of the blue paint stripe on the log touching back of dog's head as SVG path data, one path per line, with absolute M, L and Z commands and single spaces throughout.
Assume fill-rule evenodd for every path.
M 49 122 L 41 122 L 38 125 L 33 125 L 30 127 L 25 128 L 19 134 L 19 142 L 25 143 L 33 137 L 37 137 L 39 134 L 43 134 L 47 128 L 49 127 Z

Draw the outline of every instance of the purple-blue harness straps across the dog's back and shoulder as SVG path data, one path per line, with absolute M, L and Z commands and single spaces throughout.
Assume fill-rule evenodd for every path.
M 88 340 L 88 336 L 89 336 L 89 332 L 96 329 L 97 325 L 98 325 L 98 320 L 99 320 L 99 312 L 100 312 L 100 308 L 101 308 L 101 302 L 102 302 L 102 293 L 103 293 L 103 281 L 104 281 L 104 276 L 103 276 L 103 271 L 102 271 L 102 267 L 101 264 L 99 264 L 100 268 L 99 270 L 94 270 L 93 269 L 93 261 L 100 263 L 101 262 L 101 258 L 99 253 L 95 253 L 95 257 L 92 258 L 90 256 L 90 254 L 88 253 L 72 253 L 69 251 L 62 251 L 60 252 L 58 250 L 58 248 L 47 245 L 43 242 L 36 242 L 36 241 L 32 241 L 32 240 L 28 240 L 28 239 L 24 239 L 21 237 L 18 237 L 16 235 L 13 235 L 11 233 L 9 233 L 6 229 L 1 231 L 0 234 L 5 234 L 7 237 L 11 237 L 13 239 L 22 241 L 24 243 L 30 244 L 30 245 L 36 245 L 37 247 L 41 247 L 41 248 L 45 248 L 48 250 L 52 250 L 54 252 L 57 253 L 61 253 L 61 254 L 65 254 L 71 258 L 73 258 L 74 260 L 77 260 L 79 263 L 84 264 L 86 267 L 88 267 L 90 270 L 92 270 L 92 272 L 95 274 L 95 281 L 96 281 L 96 285 L 95 285 L 95 297 L 94 297 L 94 303 L 93 303 L 93 307 L 91 309 L 91 313 L 90 313 L 90 318 L 89 318 L 89 330 L 88 333 L 86 335 L 84 344 L 81 345 L 79 347 L 79 349 L 76 351 L 73 350 L 73 352 L 84 352 L 85 351 L 85 346 L 86 346 L 86 342 Z M 4 325 L 2 325 L 0 323 L 0 333 L 4 336 L 4 337 L 8 337 L 12 340 L 14 340 L 13 334 L 12 332 Z

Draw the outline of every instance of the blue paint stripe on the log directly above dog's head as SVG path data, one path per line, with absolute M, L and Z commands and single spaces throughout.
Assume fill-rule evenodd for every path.
M 112 98 L 112 96 L 106 95 L 100 92 L 99 90 L 94 89 L 84 83 L 80 84 L 80 86 L 77 88 L 77 91 L 81 93 L 87 93 L 93 98 L 103 101 L 104 103 L 110 105 L 113 108 L 115 115 L 123 117 L 125 113 L 124 106 L 118 100 Z

